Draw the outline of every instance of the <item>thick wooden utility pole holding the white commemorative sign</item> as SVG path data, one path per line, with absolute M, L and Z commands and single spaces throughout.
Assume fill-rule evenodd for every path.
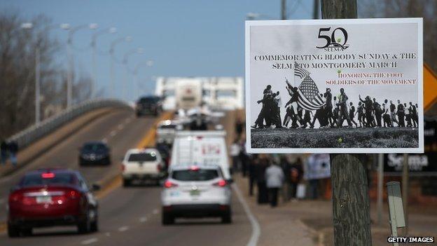
M 357 18 L 356 0 L 321 0 L 323 19 Z M 334 245 L 372 245 L 366 154 L 331 154 Z

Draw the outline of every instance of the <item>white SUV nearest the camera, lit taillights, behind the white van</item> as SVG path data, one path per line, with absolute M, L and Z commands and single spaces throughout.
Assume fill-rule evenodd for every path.
M 221 217 L 232 221 L 230 184 L 217 165 L 170 165 L 161 193 L 162 224 L 176 217 Z

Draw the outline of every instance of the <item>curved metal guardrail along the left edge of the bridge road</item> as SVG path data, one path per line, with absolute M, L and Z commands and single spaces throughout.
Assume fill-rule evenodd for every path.
M 87 100 L 76 104 L 69 109 L 64 109 L 60 114 L 47 118 L 41 121 L 38 125 L 31 125 L 29 128 L 22 130 L 12 137 L 9 137 L 7 141 L 15 141 L 18 144 L 19 149 L 22 149 L 29 144 L 32 144 L 36 140 L 43 136 L 50 134 L 53 130 L 56 130 L 65 123 L 71 121 L 72 119 L 84 114 L 88 111 L 94 109 L 104 108 L 104 107 L 131 107 L 132 105 L 128 102 L 115 99 L 95 99 Z

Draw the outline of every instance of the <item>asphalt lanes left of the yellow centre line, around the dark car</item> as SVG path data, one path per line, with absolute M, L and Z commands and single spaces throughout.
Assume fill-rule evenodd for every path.
M 0 179 L 0 221 L 6 221 L 6 203 L 11 187 L 18 183 L 22 175 L 38 168 L 62 167 L 78 169 L 85 179 L 92 184 L 105 175 L 120 170 L 120 160 L 127 149 L 136 146 L 146 131 L 153 126 L 155 118 L 135 118 L 134 112 L 127 109 L 114 109 L 109 114 L 100 116 L 74 135 L 64 139 L 42 156 L 25 167 Z M 87 166 L 79 168 L 78 148 L 87 141 L 106 139 L 111 147 L 110 166 Z M 1 245 L 1 244 L 0 244 Z

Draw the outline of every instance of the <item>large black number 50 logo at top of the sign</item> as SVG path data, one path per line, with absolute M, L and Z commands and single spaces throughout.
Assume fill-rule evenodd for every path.
M 347 44 L 347 32 L 342 27 L 337 27 L 333 29 L 331 32 L 331 36 L 324 35 L 324 34 L 330 34 L 329 31 L 331 31 L 331 27 L 327 28 L 320 28 L 319 29 L 319 36 L 317 36 L 318 39 L 325 39 L 326 43 L 324 46 L 316 46 L 316 48 L 325 48 L 327 50 L 345 50 L 349 48 L 349 44 Z M 324 32 L 324 34 L 322 34 Z M 335 36 L 337 34 L 337 36 Z M 332 48 L 332 49 L 331 49 Z

